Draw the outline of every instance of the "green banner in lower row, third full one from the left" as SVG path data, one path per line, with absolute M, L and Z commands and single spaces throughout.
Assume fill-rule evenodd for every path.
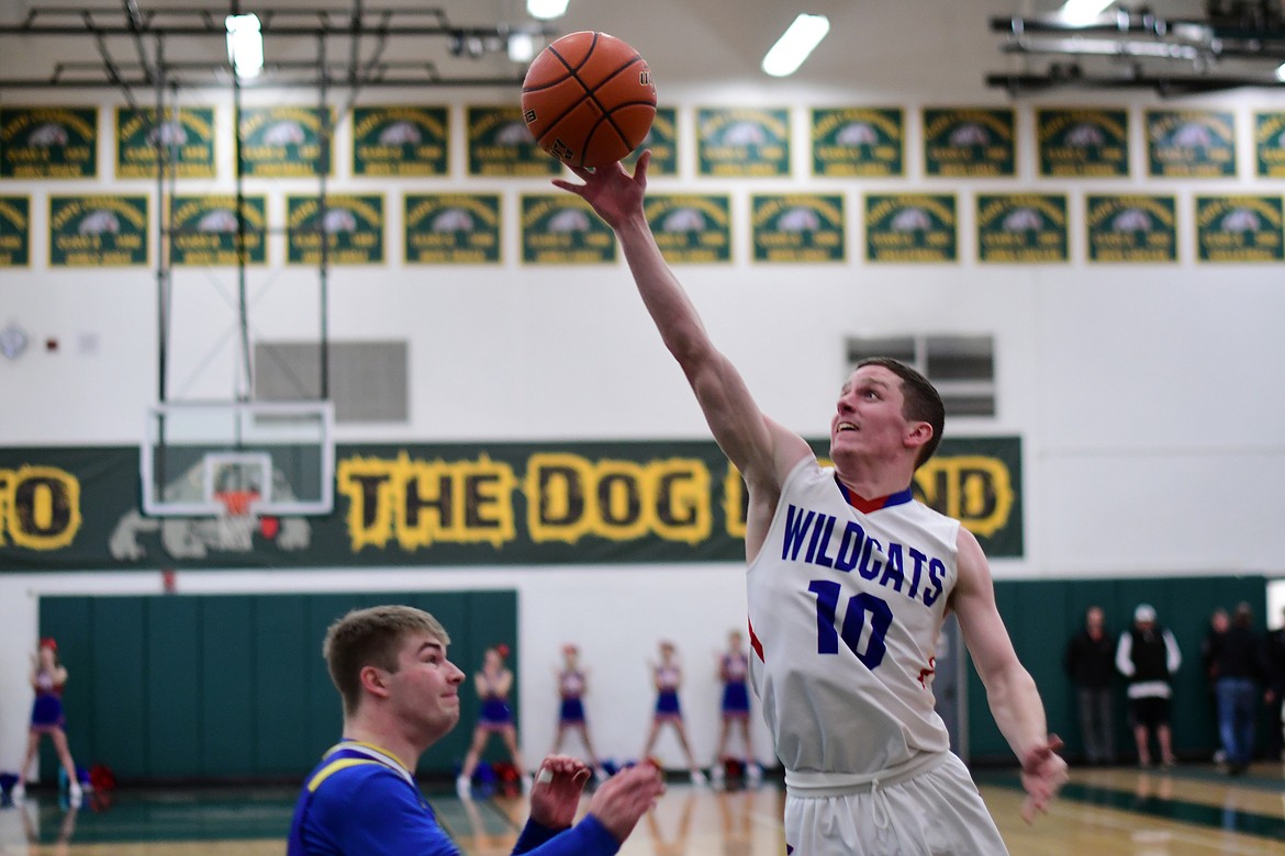
M 325 210 L 317 196 L 285 198 L 285 261 L 320 264 L 325 236 L 328 264 L 384 263 L 384 198 L 333 194 Z

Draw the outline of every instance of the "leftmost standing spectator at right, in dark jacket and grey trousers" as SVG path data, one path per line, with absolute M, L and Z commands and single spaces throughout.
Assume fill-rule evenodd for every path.
M 1085 629 L 1067 646 L 1063 663 L 1076 684 L 1085 756 L 1088 764 L 1112 764 L 1115 760 L 1115 725 L 1112 717 L 1115 640 L 1106 634 L 1103 607 L 1091 606 L 1085 612 Z

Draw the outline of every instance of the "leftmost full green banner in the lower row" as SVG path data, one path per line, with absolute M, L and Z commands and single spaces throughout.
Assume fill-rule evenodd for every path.
M 148 263 L 146 196 L 50 196 L 50 267 Z

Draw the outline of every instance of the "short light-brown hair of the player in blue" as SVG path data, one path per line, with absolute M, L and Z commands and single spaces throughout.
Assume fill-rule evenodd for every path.
M 375 666 L 397 671 L 397 649 L 411 633 L 427 633 L 443 646 L 451 643 L 441 621 L 410 606 L 352 610 L 330 625 L 321 643 L 321 656 L 343 698 L 344 716 L 355 714 L 361 703 L 361 670 Z

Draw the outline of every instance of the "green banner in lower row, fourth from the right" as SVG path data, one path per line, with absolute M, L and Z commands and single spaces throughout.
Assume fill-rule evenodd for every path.
M 867 194 L 865 226 L 871 262 L 959 261 L 959 217 L 951 194 Z

